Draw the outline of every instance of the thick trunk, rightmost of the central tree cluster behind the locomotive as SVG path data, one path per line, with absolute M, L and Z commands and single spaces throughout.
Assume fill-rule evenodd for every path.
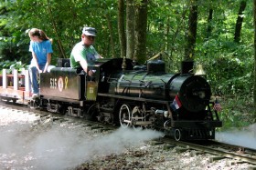
M 144 64 L 146 60 L 146 26 L 147 26 L 147 4 L 148 0 L 141 0 L 141 5 L 136 6 L 135 20 L 135 47 L 133 60 Z

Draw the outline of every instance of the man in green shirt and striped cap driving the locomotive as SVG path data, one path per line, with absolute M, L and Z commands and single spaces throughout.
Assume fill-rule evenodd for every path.
M 93 65 L 96 59 L 102 58 L 92 46 L 96 33 L 95 28 L 85 26 L 82 29 L 81 41 L 73 47 L 69 58 L 72 68 L 82 67 L 90 76 L 93 75 L 93 71 L 88 70 L 88 65 Z

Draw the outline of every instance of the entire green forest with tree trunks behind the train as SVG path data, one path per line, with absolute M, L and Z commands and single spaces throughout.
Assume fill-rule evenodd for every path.
M 84 25 L 98 31 L 95 48 L 105 58 L 139 64 L 161 54 L 166 71 L 184 60 L 203 65 L 219 96 L 224 128 L 256 122 L 256 0 L 0 0 L 0 69 L 29 65 L 27 32 L 37 27 L 53 39 L 52 64 L 69 58 Z M 194 71 L 195 72 L 195 71 Z

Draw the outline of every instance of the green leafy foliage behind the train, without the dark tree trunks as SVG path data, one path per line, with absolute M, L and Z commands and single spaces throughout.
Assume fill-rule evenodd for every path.
M 140 4 L 140 1 L 135 1 Z M 213 94 L 251 95 L 253 80 L 253 41 L 251 1 L 244 11 L 240 43 L 234 43 L 235 24 L 240 1 L 198 0 L 197 45 L 195 62 L 207 71 Z M 147 59 L 165 52 L 167 72 L 180 70 L 186 46 L 187 20 L 190 1 L 149 1 L 146 53 Z M 208 21 L 209 9 L 213 10 Z M 110 32 L 112 31 L 115 54 L 120 53 L 117 26 L 117 1 L 114 0 L 16 0 L 0 5 L 0 59 L 22 61 L 31 59 L 28 52 L 27 29 L 37 27 L 53 38 L 55 64 L 61 56 L 59 43 L 66 57 L 80 41 L 83 25 L 97 30 L 95 47 L 104 57 L 110 57 Z M 125 11 L 124 11 L 125 13 Z M 112 30 L 107 24 L 109 16 Z M 1 66 L 1 65 L 0 65 Z

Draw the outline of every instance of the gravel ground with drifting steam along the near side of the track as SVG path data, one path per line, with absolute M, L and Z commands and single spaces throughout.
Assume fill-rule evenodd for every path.
M 111 129 L 76 118 L 0 105 L 0 169 L 253 169 L 151 130 Z

